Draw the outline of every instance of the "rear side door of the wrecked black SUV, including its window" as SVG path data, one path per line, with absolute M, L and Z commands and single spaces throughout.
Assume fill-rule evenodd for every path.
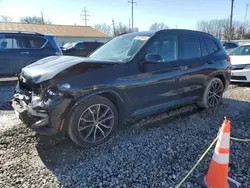
M 203 94 L 208 75 L 214 71 L 213 60 L 209 57 L 204 39 L 199 35 L 183 34 L 180 49 L 182 97 L 187 101 L 197 100 Z

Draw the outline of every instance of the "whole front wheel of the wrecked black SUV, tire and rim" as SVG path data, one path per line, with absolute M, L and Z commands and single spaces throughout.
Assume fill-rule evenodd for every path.
M 72 113 L 68 134 L 79 146 L 96 146 L 111 136 L 117 123 L 114 104 L 104 97 L 94 96 L 79 104 Z

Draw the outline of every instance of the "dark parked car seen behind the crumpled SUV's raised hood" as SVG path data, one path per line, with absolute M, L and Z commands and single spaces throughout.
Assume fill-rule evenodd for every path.
M 102 46 L 102 42 L 72 42 L 63 46 L 63 55 L 87 57 L 97 48 Z

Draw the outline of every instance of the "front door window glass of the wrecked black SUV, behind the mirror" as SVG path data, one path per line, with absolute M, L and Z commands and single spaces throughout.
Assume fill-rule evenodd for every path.
M 149 45 L 147 53 L 159 54 L 163 62 L 175 61 L 178 59 L 178 36 L 166 35 L 157 37 Z

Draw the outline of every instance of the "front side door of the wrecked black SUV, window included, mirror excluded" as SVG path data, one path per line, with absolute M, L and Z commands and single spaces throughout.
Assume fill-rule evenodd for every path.
M 135 114 L 157 112 L 179 102 L 182 67 L 179 63 L 177 35 L 160 35 L 152 39 L 145 54 L 158 54 L 159 63 L 141 62 L 130 89 Z

